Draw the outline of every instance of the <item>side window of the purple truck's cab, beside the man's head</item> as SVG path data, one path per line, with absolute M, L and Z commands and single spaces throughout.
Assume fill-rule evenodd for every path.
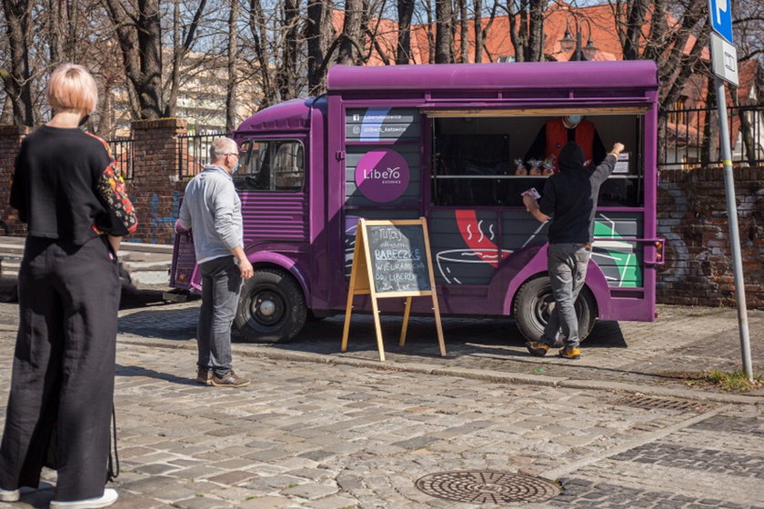
M 305 181 L 305 150 L 297 140 L 246 140 L 234 183 L 240 191 L 298 191 Z

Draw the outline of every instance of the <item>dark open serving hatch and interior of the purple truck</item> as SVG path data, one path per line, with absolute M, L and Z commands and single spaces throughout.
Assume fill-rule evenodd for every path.
M 548 165 L 545 167 L 543 157 L 530 157 L 528 150 L 548 121 L 574 113 L 571 110 L 537 110 L 523 115 L 514 111 L 508 115 L 491 115 L 487 111 L 427 113 L 432 141 L 432 205 L 523 206 L 520 193 L 530 187 L 541 192 L 552 172 Z M 621 161 L 602 185 L 598 205 L 642 206 L 644 115 L 641 111 L 580 113 L 594 125 L 606 153 L 616 142 L 626 145 L 628 161 Z

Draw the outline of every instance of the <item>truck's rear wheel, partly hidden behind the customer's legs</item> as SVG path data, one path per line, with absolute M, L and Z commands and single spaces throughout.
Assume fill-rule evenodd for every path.
M 554 304 L 552 286 L 548 276 L 531 279 L 520 286 L 515 297 L 515 319 L 518 328 L 528 341 L 538 341 L 544 333 L 549 318 L 550 304 Z M 585 340 L 597 320 L 597 303 L 585 285 L 576 300 L 578 314 L 578 337 Z

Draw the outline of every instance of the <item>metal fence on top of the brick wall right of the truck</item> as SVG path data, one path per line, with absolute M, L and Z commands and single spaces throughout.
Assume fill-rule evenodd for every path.
M 658 166 L 692 169 L 722 163 L 716 108 L 664 110 L 659 115 L 666 130 L 658 139 Z M 732 164 L 764 164 L 764 105 L 729 106 L 727 116 Z

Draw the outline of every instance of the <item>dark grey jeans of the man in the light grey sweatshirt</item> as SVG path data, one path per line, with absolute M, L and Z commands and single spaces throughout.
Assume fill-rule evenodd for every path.
M 231 324 L 241 290 L 241 274 L 233 256 L 199 264 L 202 306 L 196 326 L 199 369 L 222 376 L 231 371 Z

